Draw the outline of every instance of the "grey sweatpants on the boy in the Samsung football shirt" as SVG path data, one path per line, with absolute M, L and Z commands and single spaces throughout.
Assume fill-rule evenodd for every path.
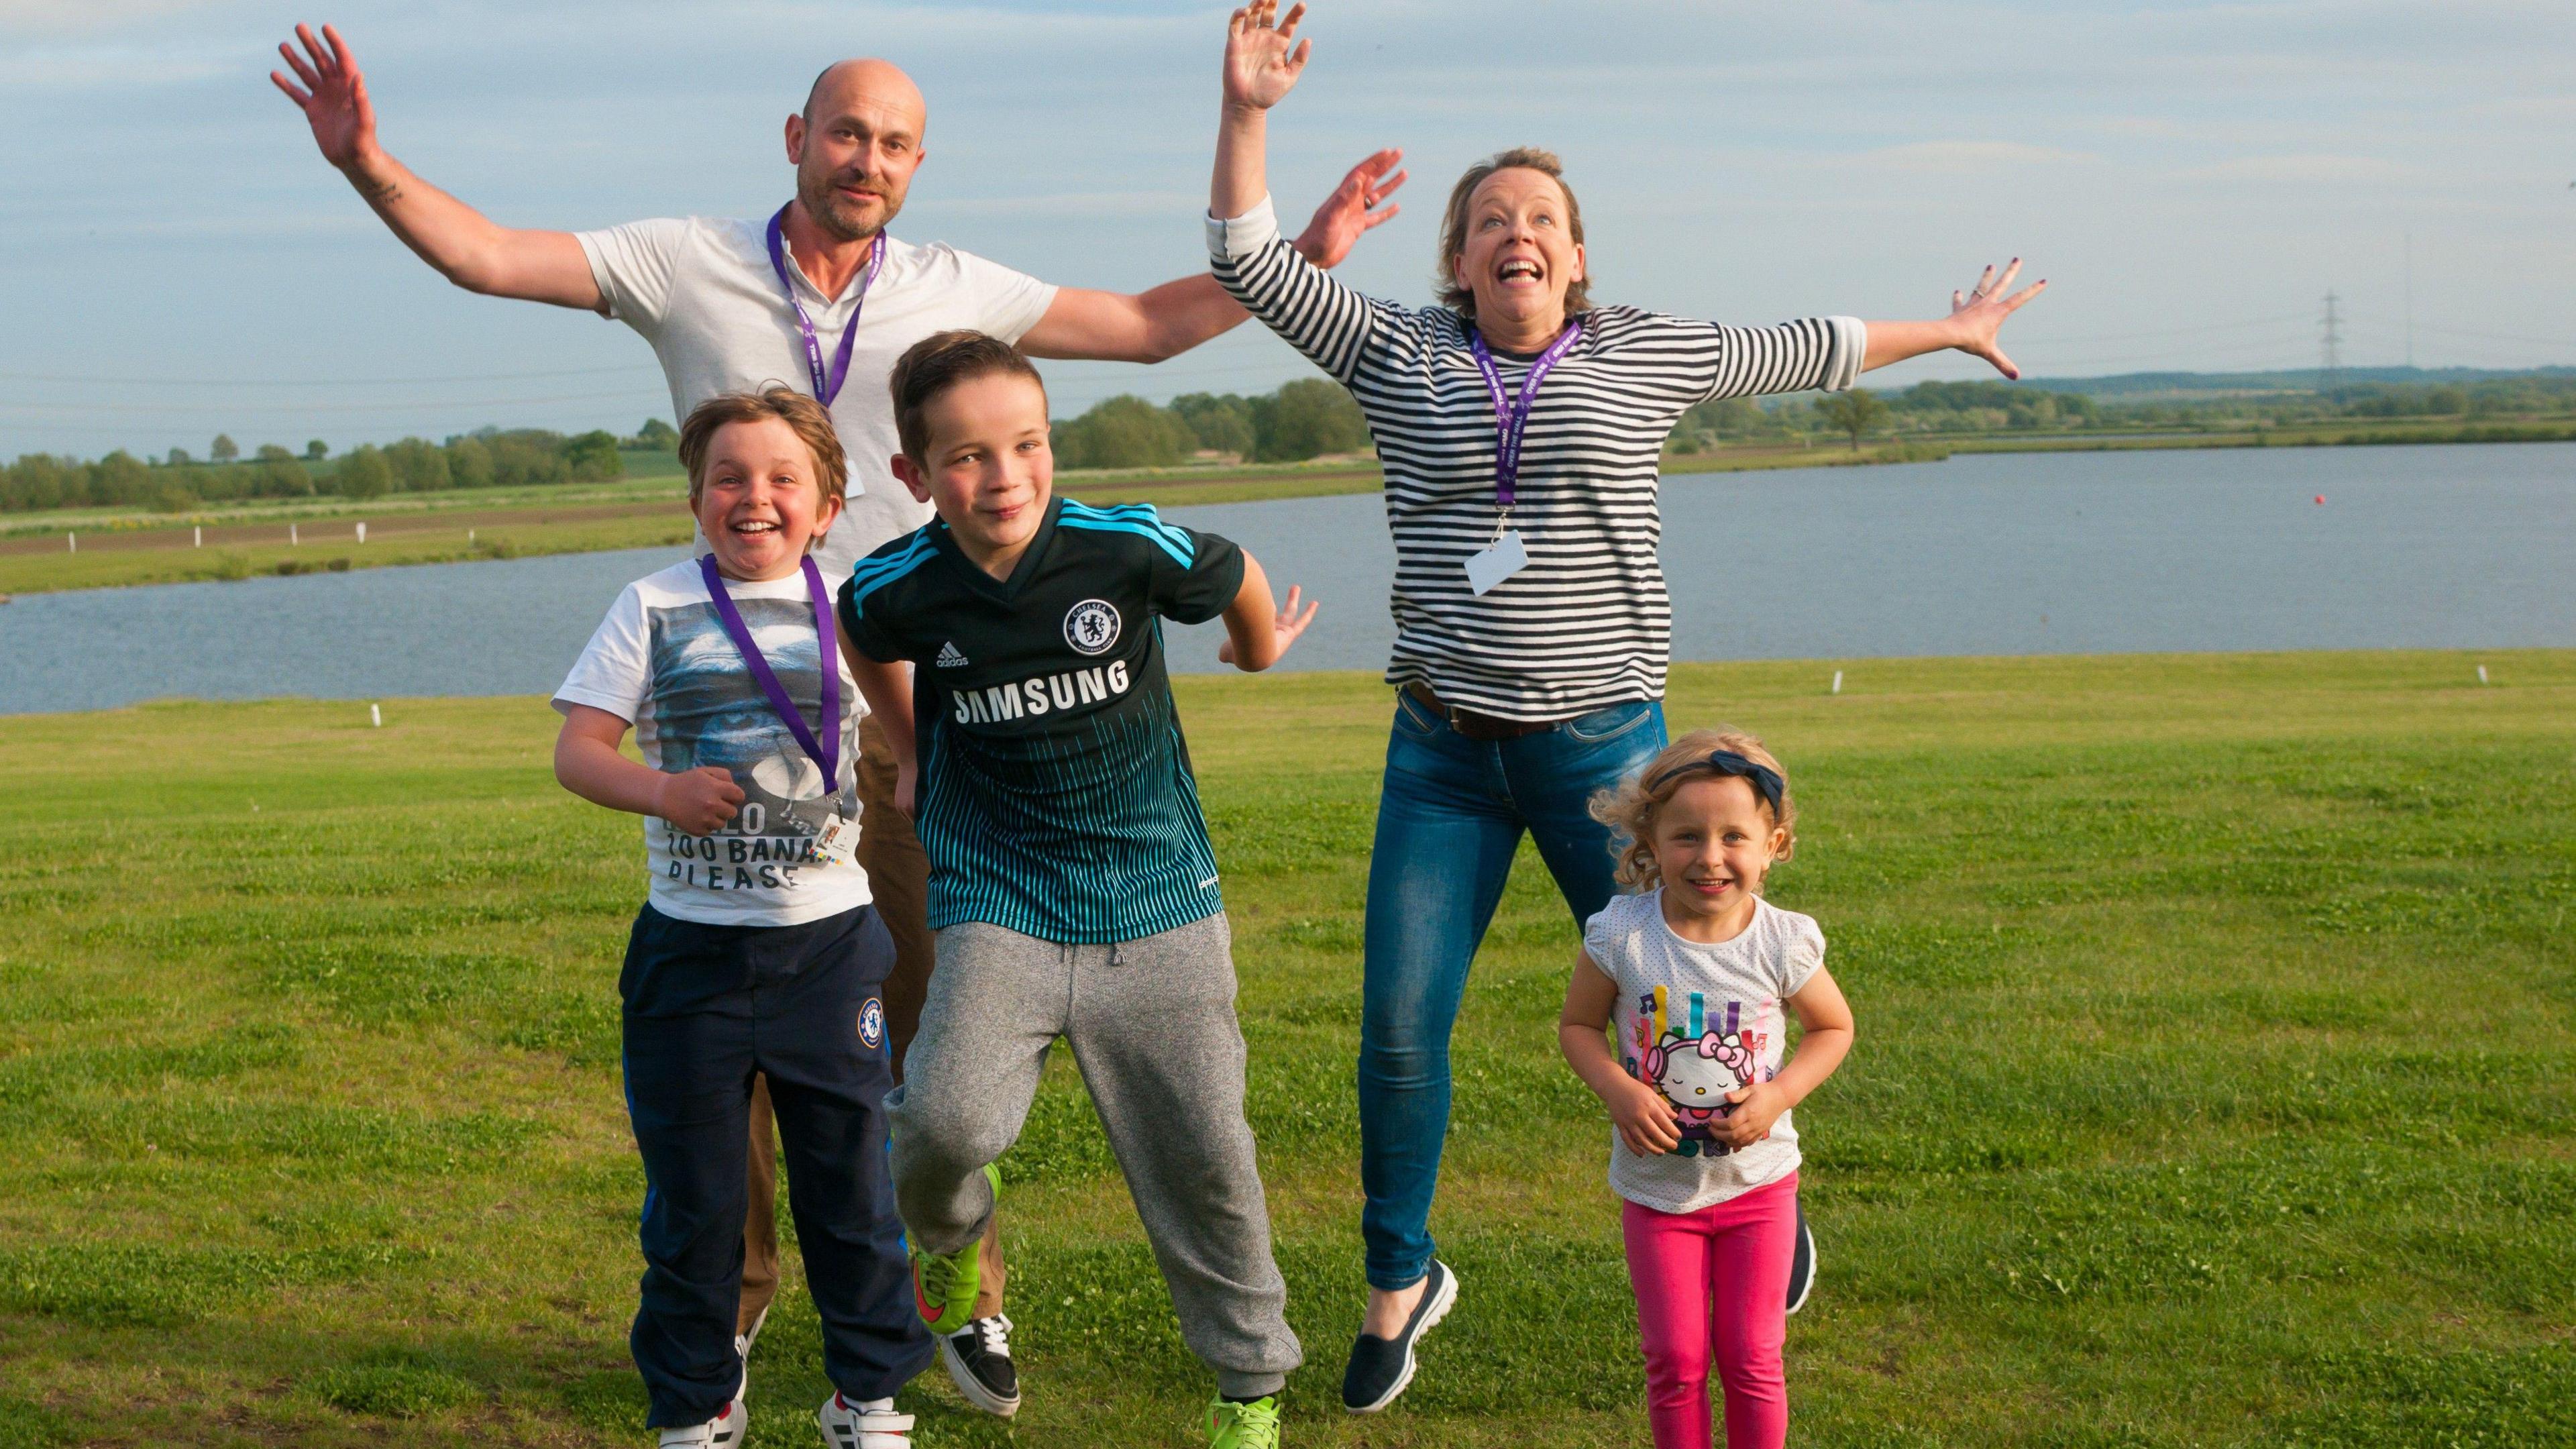
M 984 1163 L 1020 1137 L 1056 1036 L 1072 1044 L 1118 1152 L 1180 1338 L 1216 1369 L 1218 1392 L 1278 1392 L 1303 1354 L 1244 1122 L 1224 915 L 1115 946 L 1061 946 L 987 923 L 943 928 L 904 1085 L 886 1098 L 904 1230 L 933 1253 L 984 1232 Z

